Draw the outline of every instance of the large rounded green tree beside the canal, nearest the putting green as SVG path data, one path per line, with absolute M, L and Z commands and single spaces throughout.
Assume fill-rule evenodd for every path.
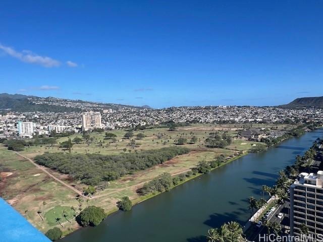
M 89 206 L 80 212 L 77 216 L 77 221 L 82 226 L 97 226 L 104 218 L 106 218 L 104 209 L 96 206 Z

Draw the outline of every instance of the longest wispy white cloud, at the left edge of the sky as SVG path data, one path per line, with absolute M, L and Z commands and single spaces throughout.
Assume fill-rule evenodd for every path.
M 47 56 L 40 56 L 29 50 L 23 50 L 22 52 L 18 52 L 15 49 L 2 44 L 0 44 L 0 49 L 5 51 L 10 56 L 17 58 L 25 63 L 37 64 L 43 67 L 58 67 L 61 65 L 61 63 L 59 61 L 56 61 L 56 59 L 52 59 Z

